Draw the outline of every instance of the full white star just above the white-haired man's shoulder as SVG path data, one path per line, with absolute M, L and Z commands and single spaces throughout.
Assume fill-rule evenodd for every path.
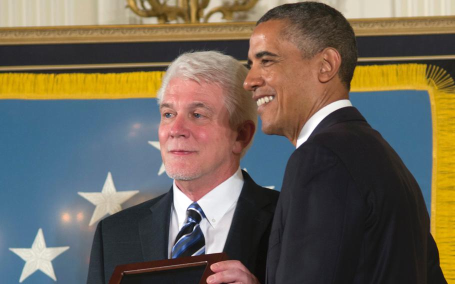
M 90 223 L 88 224 L 91 226 L 105 214 L 113 214 L 120 211 L 121 204 L 137 192 L 139 190 L 116 191 L 112 175 L 109 171 L 107 172 L 106 181 L 104 181 L 101 192 L 77 192 L 77 194 L 90 201 L 93 205 L 96 205 Z

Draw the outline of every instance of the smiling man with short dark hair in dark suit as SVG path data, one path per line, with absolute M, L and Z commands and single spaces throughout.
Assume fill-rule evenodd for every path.
M 420 188 L 348 99 L 353 30 L 317 2 L 265 13 L 249 41 L 262 131 L 290 156 L 273 218 L 267 283 L 445 283 Z

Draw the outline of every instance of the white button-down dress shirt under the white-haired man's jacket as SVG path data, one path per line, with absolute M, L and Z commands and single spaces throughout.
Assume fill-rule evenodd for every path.
M 240 167 L 228 179 L 210 190 L 197 200 L 206 218 L 200 221 L 200 229 L 205 238 L 205 253 L 221 252 L 226 242 L 238 196 L 243 187 L 243 175 Z M 172 186 L 173 202 L 170 214 L 168 257 L 170 258 L 172 246 L 178 231 L 183 226 L 186 218 L 186 209 L 193 202 L 178 189 L 175 180 Z

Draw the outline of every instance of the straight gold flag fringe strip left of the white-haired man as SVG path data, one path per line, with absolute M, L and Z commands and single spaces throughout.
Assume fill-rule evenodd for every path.
M 162 71 L 129 73 L 0 73 L 0 98 L 118 99 L 155 97 Z

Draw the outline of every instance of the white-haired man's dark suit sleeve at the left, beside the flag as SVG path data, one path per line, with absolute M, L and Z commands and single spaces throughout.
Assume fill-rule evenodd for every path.
M 104 259 L 102 246 L 102 221 L 98 222 L 91 245 L 87 284 L 104 284 Z

